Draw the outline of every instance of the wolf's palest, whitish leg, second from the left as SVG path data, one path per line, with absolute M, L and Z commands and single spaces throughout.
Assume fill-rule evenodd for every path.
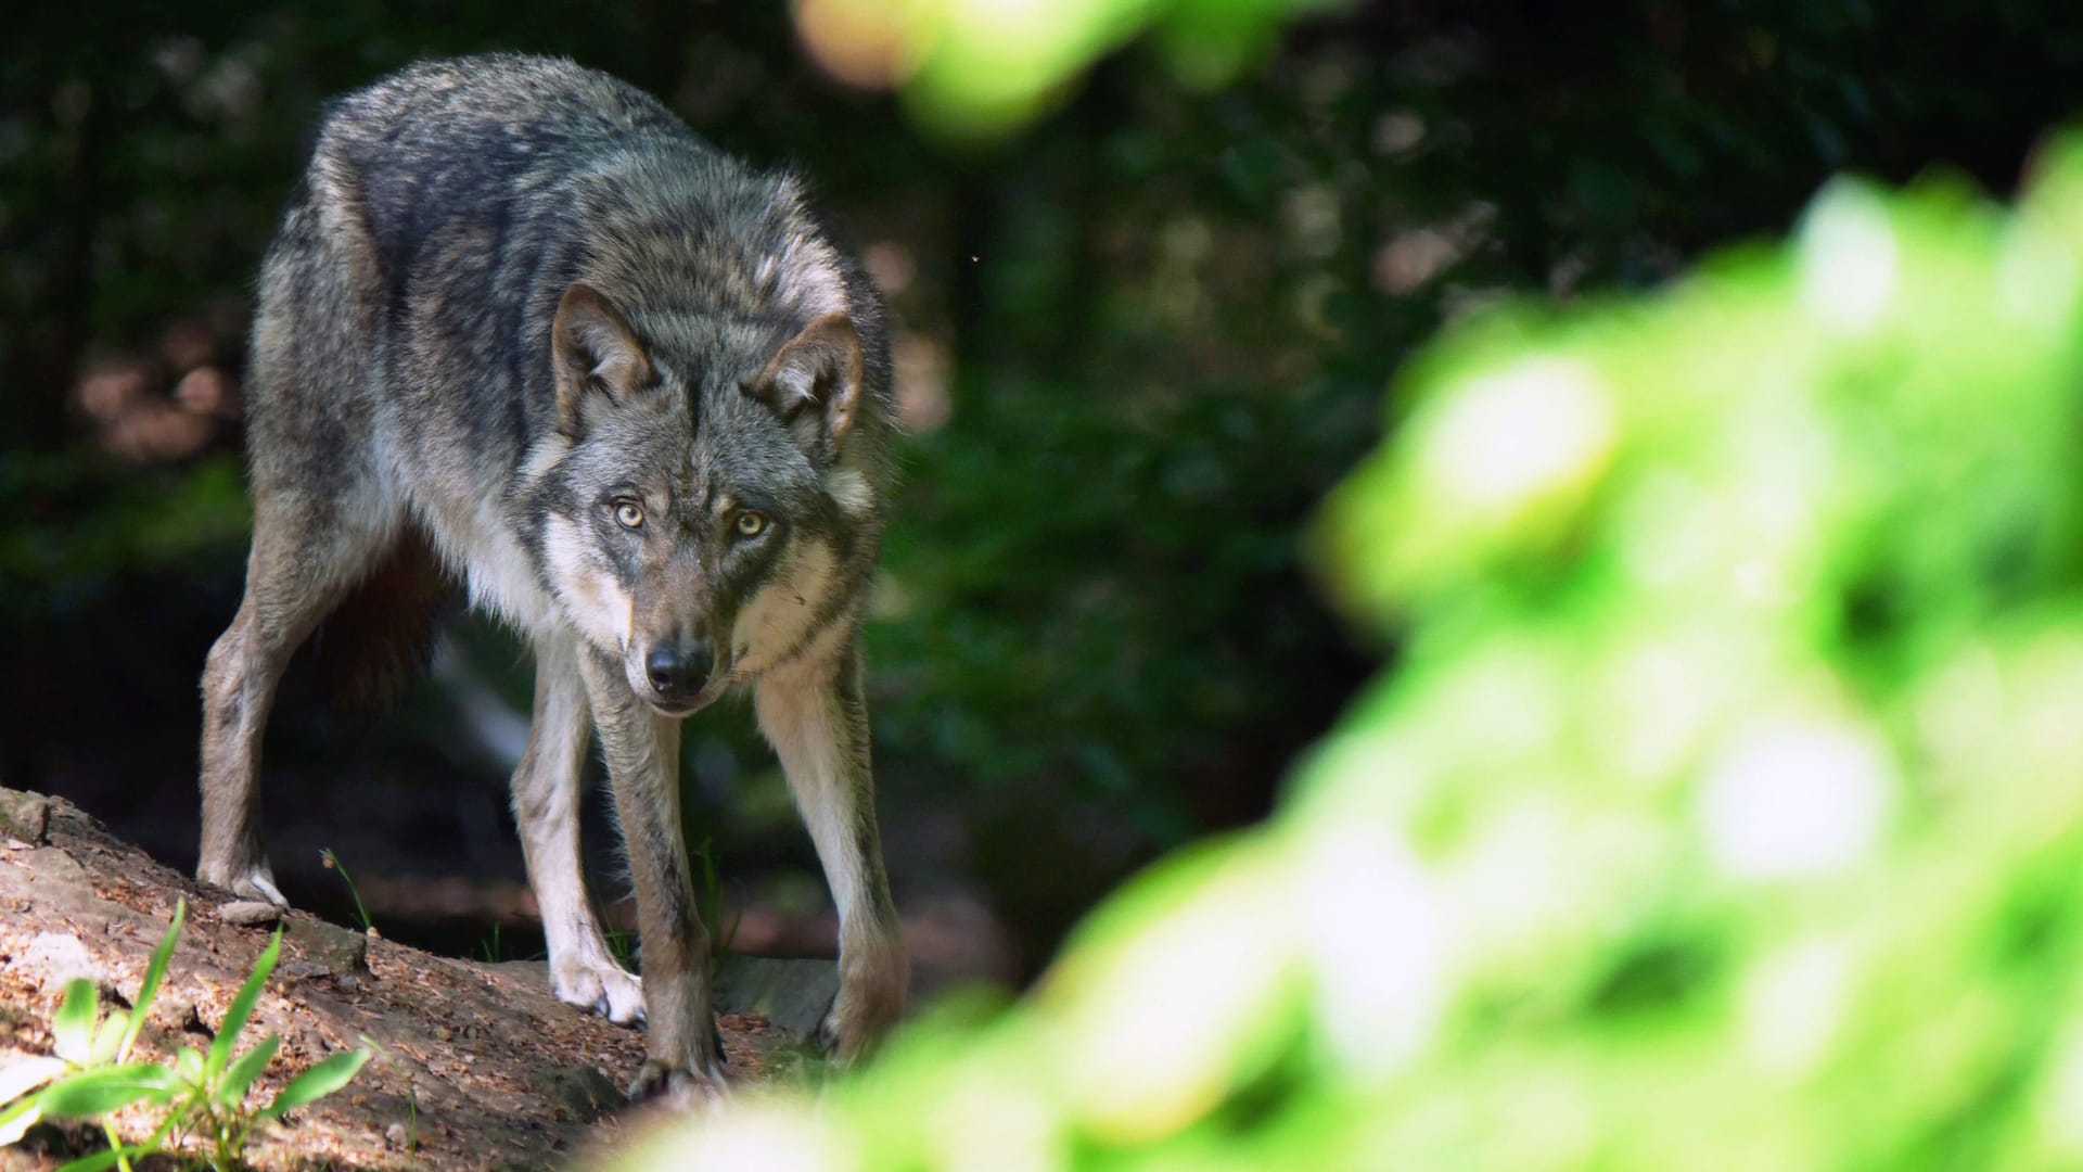
M 631 1024 L 644 1020 L 644 986 L 600 936 L 579 861 L 579 792 L 592 730 L 577 651 L 569 640 L 537 640 L 535 719 L 512 788 L 521 853 L 550 947 L 550 991 L 558 1001 Z

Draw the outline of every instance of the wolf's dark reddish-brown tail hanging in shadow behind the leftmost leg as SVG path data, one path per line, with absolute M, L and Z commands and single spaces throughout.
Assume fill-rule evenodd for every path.
M 448 594 L 442 559 L 425 534 L 406 526 L 390 555 L 310 636 L 312 669 L 331 701 L 356 713 L 398 701 L 427 672 Z

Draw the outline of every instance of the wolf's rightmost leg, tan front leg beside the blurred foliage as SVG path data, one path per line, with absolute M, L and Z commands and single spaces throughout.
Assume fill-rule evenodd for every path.
M 754 707 L 839 907 L 839 999 L 825 1018 L 825 1041 L 842 1059 L 852 1059 L 904 1014 L 910 984 L 910 959 L 875 830 L 858 638 L 839 655 L 769 672 L 758 682 Z

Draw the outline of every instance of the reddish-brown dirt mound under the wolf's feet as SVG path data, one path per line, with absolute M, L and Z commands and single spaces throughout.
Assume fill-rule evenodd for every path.
M 50 1053 L 48 1024 L 73 976 L 96 980 L 104 1011 L 127 1005 L 179 899 L 187 926 L 133 1057 L 206 1049 L 269 930 L 225 922 L 223 893 L 154 863 L 71 803 L 0 790 L 0 1068 Z M 369 1041 L 379 1057 L 342 1093 L 262 1126 L 248 1149 L 256 1168 L 567 1166 L 639 1126 L 621 1086 L 644 1059 L 642 1032 L 558 1003 L 539 963 L 435 957 L 296 911 L 283 928 L 281 961 L 242 1034 L 281 1034 L 260 1101 L 342 1049 Z M 817 1014 L 829 968 L 746 961 L 735 980 L 719 978 L 737 1080 L 789 1064 L 794 1028 Z M 148 1130 L 142 1114 L 119 1122 L 125 1134 Z M 0 1149 L 0 1170 L 56 1168 L 94 1147 L 98 1132 L 40 1126 Z

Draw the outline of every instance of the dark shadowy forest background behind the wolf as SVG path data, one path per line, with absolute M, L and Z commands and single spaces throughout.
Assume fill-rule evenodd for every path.
M 800 50 L 779 4 L 35 4 L 0 58 L 0 784 L 194 863 L 196 676 L 237 603 L 252 271 L 323 96 L 569 54 L 806 171 L 900 317 L 910 440 L 869 628 L 881 813 L 929 976 L 1021 980 L 1164 847 L 1246 824 L 1371 663 L 1302 559 L 1400 355 L 1510 294 L 1648 286 L 1835 171 L 2006 192 L 2077 102 L 2058 4 L 1373 4 L 1200 90 L 1139 48 L 996 144 Z M 462 613 L 385 715 L 300 672 L 285 890 L 535 947 L 504 774 L 519 644 Z M 829 949 L 746 711 L 687 730 L 737 945 Z M 596 820 L 602 822 L 602 820 Z M 612 874 L 612 836 L 596 861 Z M 608 886 L 614 886 L 612 880 Z M 539 938 L 537 938 L 539 941 Z

